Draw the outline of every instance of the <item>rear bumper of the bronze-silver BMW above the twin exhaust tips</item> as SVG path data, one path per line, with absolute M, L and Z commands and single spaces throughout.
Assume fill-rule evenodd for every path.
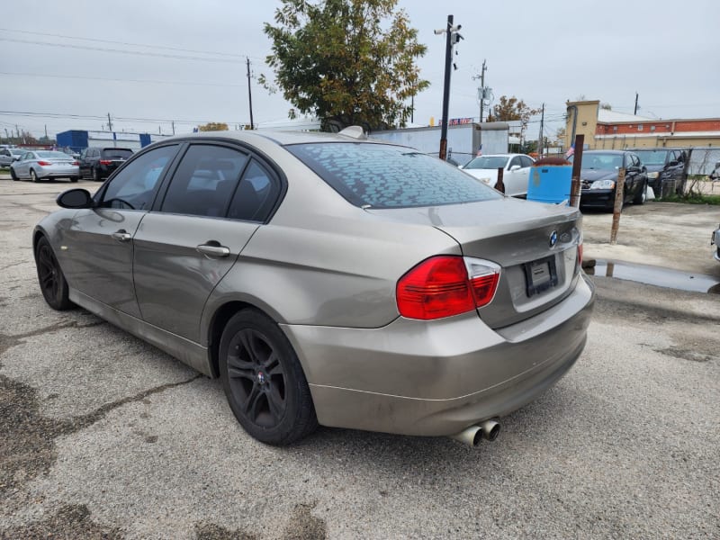
M 473 312 L 382 329 L 284 325 L 320 424 L 452 435 L 533 401 L 581 355 L 595 294 L 581 275 L 553 308 L 492 330 Z

